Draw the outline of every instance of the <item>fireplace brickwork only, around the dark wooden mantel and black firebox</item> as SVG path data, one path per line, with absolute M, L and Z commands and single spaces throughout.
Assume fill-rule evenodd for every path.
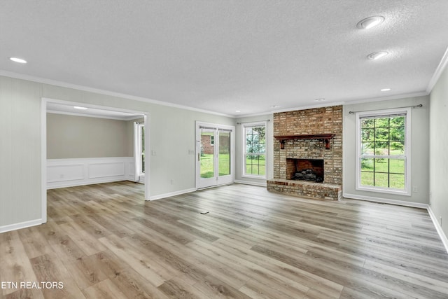
M 311 135 L 335 134 L 330 139 L 330 149 L 325 149 L 323 139 L 291 139 L 285 142 L 285 148 L 280 149 L 280 141 L 274 139 L 274 180 L 288 180 L 286 158 L 323 159 L 324 183 L 335 185 L 337 199 L 342 188 L 342 106 L 328 106 L 316 109 L 287 111 L 274 113 L 274 136 L 281 135 Z M 295 183 L 297 188 L 316 189 L 312 184 Z M 311 188 L 312 186 L 312 188 Z M 278 187 L 278 186 L 277 186 Z M 269 189 L 269 182 L 268 182 Z M 323 186 L 321 189 L 324 189 Z M 317 192 L 317 191 L 316 191 Z M 290 192 L 286 192 L 290 193 Z M 295 193 L 295 192 L 291 192 Z M 307 193 L 307 197 L 313 197 Z M 325 193 L 325 192 L 324 192 Z M 334 194 L 332 195 L 334 196 Z M 316 194 L 316 197 L 328 197 Z

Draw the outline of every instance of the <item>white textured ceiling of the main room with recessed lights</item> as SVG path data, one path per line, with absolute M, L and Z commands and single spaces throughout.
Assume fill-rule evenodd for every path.
M 0 74 L 232 116 L 421 95 L 447 15 L 447 0 L 2 0 Z

